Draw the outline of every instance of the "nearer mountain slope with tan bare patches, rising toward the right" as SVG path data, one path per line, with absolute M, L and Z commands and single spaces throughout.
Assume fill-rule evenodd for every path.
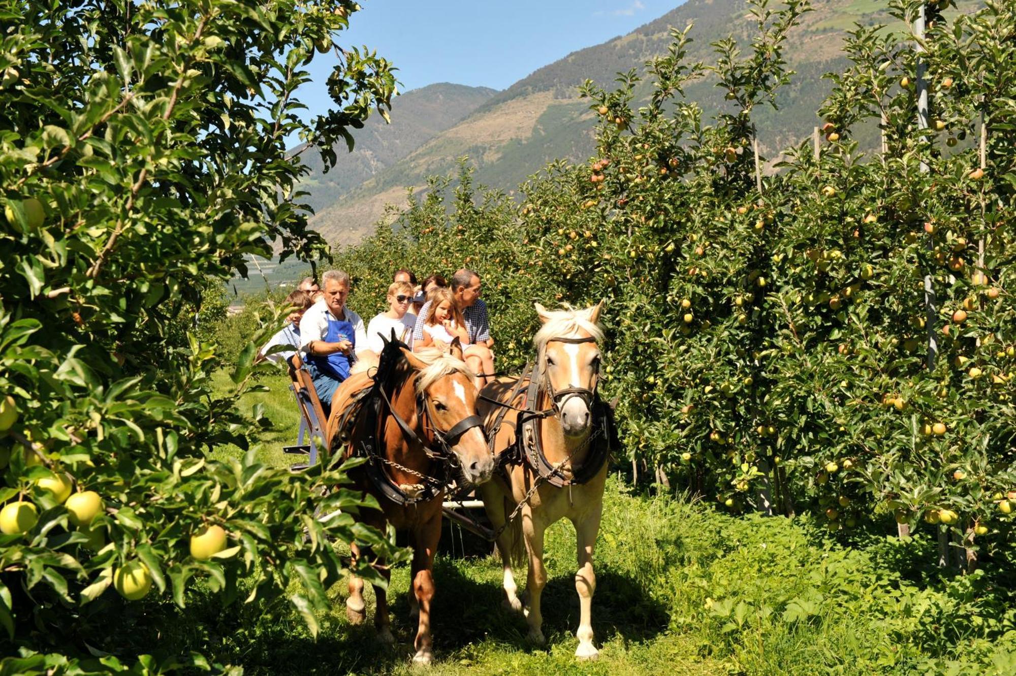
M 845 65 L 840 54 L 845 31 L 855 22 L 894 23 L 885 11 L 887 4 L 812 0 L 814 11 L 802 17 L 785 45 L 785 58 L 797 75 L 778 95 L 780 110 L 755 112 L 763 155 L 775 155 L 811 135 L 819 123 L 816 111 L 831 86 L 822 75 Z M 972 4 L 967 0 L 961 6 Z M 488 97 L 457 124 L 319 211 L 311 224 L 330 241 L 354 244 L 372 230 L 386 205 L 404 204 L 408 187 L 426 187 L 428 177 L 455 171 L 462 155 L 477 165 L 477 183 L 506 192 L 552 159 L 580 161 L 594 149 L 589 102 L 579 98 L 576 90 L 582 81 L 589 78 L 613 86 L 618 72 L 665 54 L 672 42 L 670 28 L 684 28 L 690 21 L 695 25 L 689 61 L 715 63 L 710 43 L 733 35 L 747 46 L 755 35 L 747 9 L 745 0 L 688 0 L 626 36 L 573 52 Z M 646 94 L 648 87 L 643 83 L 639 92 Z M 724 105 L 710 77 L 692 83 L 686 95 L 702 106 L 705 121 Z

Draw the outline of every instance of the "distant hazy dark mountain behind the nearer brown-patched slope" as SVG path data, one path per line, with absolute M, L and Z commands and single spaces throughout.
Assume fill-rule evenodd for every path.
M 310 192 L 306 201 L 315 210 L 330 205 L 461 121 L 495 93 L 497 90 L 489 87 L 441 82 L 396 96 L 392 100 L 391 124 L 372 115 L 363 129 L 354 131 L 354 151 L 346 153 L 344 145 L 338 148 L 338 164 L 327 174 L 321 157 L 307 153 L 304 162 L 311 174 L 301 182 L 301 187 Z M 301 150 L 301 146 L 294 150 Z

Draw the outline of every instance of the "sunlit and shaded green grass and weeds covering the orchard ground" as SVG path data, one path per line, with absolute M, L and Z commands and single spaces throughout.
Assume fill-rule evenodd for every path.
M 223 376 L 223 387 L 228 379 Z M 284 377 L 250 395 L 274 426 L 256 453 L 277 466 L 296 437 Z M 237 453 L 223 448 L 216 455 Z M 1011 572 L 986 565 L 966 578 L 926 567 L 935 543 L 881 533 L 833 541 L 796 520 L 722 515 L 695 500 L 633 494 L 612 477 L 597 541 L 593 628 L 600 659 L 576 663 L 574 532 L 547 536 L 546 648 L 525 641 L 522 617 L 501 606 L 500 564 L 439 553 L 433 610 L 435 674 L 1008 674 L 1016 671 L 1016 595 Z M 447 535 L 447 533 L 446 533 Z M 461 533 L 452 532 L 455 538 Z M 446 543 L 449 538 L 446 537 Z M 457 540 L 456 540 L 457 542 Z M 518 578 L 524 580 L 524 571 Z M 214 596 L 172 606 L 165 640 L 199 650 L 247 674 L 407 674 L 415 623 L 408 569 L 391 582 L 394 648 L 373 627 L 352 626 L 345 585 L 314 639 L 284 601 L 223 609 Z M 368 609 L 373 595 L 368 594 Z

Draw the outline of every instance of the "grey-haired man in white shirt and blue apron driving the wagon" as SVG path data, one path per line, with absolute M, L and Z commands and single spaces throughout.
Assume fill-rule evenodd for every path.
M 345 307 L 350 275 L 329 270 L 321 276 L 321 284 L 324 298 L 300 320 L 300 348 L 307 357 L 307 370 L 327 415 L 335 390 L 350 376 L 357 347 L 364 349 L 367 345 L 367 332 L 360 316 Z

